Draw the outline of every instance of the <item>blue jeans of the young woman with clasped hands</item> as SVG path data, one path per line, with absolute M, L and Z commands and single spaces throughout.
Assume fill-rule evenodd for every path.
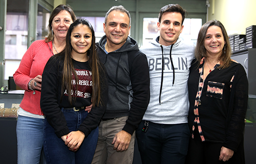
M 75 112 L 73 110 L 65 110 L 62 108 L 61 111 L 66 118 L 70 131 L 77 131 L 80 124 L 88 115 L 88 112 L 84 110 Z M 79 149 L 73 152 L 69 150 L 62 139 L 57 137 L 53 127 L 46 120 L 44 129 L 44 150 L 47 163 L 91 163 L 98 141 L 98 132 L 98 127 L 92 130 L 87 138 L 84 138 Z

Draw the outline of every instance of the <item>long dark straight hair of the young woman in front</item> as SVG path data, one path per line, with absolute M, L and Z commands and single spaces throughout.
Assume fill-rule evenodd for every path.
M 56 56 L 64 56 L 64 63 L 63 63 L 63 74 L 62 74 L 62 89 L 67 90 L 68 92 L 68 99 L 70 103 L 72 103 L 72 96 L 71 96 L 71 90 L 73 89 L 71 81 L 72 81 L 72 74 L 75 75 L 76 81 L 78 81 L 77 74 L 75 72 L 75 68 L 72 62 L 72 45 L 71 45 L 71 33 L 74 30 L 74 28 L 78 24 L 87 25 L 88 28 L 92 32 L 92 45 L 87 51 L 87 56 L 89 56 L 89 66 L 92 70 L 92 80 L 93 80 L 93 93 L 92 93 L 92 105 L 95 106 L 101 103 L 101 97 L 100 97 L 100 73 L 99 71 L 102 70 L 97 52 L 96 52 L 96 46 L 95 46 L 95 32 L 93 29 L 93 26 L 91 23 L 86 19 L 77 19 L 75 20 L 69 27 L 69 30 L 67 32 L 66 37 L 66 47 L 63 51 L 61 51 L 59 54 L 56 54 Z M 77 87 L 76 87 L 77 89 Z

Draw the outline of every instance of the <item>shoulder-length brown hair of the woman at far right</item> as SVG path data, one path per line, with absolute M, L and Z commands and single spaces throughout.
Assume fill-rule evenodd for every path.
M 213 26 L 213 25 L 221 28 L 221 31 L 222 31 L 222 34 L 224 37 L 224 41 L 226 42 L 226 44 L 223 47 L 222 53 L 218 58 L 218 60 L 221 62 L 221 65 L 219 66 L 219 68 L 227 68 L 231 63 L 231 59 L 230 59 L 231 48 L 230 48 L 227 32 L 224 28 L 224 25 L 219 20 L 210 20 L 210 21 L 204 23 L 204 25 L 202 26 L 202 28 L 198 34 L 197 46 L 195 49 L 195 57 L 196 57 L 197 61 L 199 61 L 199 63 L 200 63 L 202 57 L 207 58 L 206 49 L 204 47 L 204 41 L 205 41 L 205 36 L 206 36 L 207 30 L 209 29 L 210 26 Z

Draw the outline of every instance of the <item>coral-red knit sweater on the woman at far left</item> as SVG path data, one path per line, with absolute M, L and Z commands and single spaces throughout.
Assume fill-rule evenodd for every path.
M 36 40 L 30 45 L 17 71 L 13 74 L 15 84 L 25 90 L 19 106 L 32 114 L 44 115 L 40 108 L 41 92 L 36 90 L 33 94 L 33 91 L 28 89 L 28 83 L 30 79 L 42 75 L 51 56 L 53 56 L 52 42 L 46 43 L 45 40 Z

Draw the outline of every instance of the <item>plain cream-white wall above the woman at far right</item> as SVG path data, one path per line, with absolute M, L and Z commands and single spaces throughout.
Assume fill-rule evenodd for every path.
M 222 22 L 228 35 L 245 34 L 248 26 L 256 25 L 255 0 L 210 0 L 208 20 Z

